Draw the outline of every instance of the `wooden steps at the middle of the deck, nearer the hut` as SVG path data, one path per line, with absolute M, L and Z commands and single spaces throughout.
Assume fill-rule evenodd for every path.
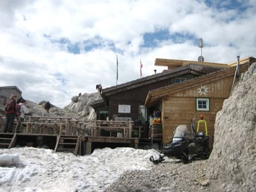
M 55 152 L 78 154 L 80 148 L 80 136 L 59 135 L 55 146 Z

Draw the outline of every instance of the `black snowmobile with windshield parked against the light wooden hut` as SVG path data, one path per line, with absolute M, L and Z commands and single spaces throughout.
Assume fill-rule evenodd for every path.
M 194 133 L 193 133 L 194 132 Z M 210 137 L 204 132 L 188 132 L 185 125 L 179 125 L 174 132 L 172 141 L 163 147 L 163 154 L 168 157 L 181 159 L 184 164 L 192 160 L 208 159 L 210 155 Z

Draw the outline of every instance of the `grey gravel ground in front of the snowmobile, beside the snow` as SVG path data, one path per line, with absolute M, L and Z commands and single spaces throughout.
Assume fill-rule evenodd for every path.
M 205 163 L 198 160 L 183 164 L 180 160 L 165 157 L 149 171 L 131 171 L 123 174 L 118 182 L 106 191 L 214 191 L 205 179 Z

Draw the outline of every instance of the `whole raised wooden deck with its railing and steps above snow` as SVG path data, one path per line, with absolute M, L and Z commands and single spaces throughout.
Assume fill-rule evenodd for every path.
M 141 132 L 141 127 L 131 121 L 83 122 L 66 117 L 37 116 L 28 117 L 22 127 L 17 119 L 14 129 L 15 133 L 0 133 L 0 148 L 46 147 L 74 155 L 91 154 L 95 148 L 104 147 L 138 148 Z

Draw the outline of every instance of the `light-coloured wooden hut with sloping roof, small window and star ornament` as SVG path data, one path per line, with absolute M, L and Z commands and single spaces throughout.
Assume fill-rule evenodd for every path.
M 255 58 L 250 57 L 240 61 L 239 73 L 248 70 L 250 64 L 255 62 Z M 158 61 L 157 64 L 163 64 Z M 166 66 L 182 66 L 188 62 L 166 61 Z M 227 99 L 232 90 L 232 86 L 237 81 L 237 63 L 226 65 L 223 70 L 202 75 L 183 81 L 179 84 L 163 86 L 150 90 L 145 100 L 147 108 L 158 108 L 161 111 L 158 126 L 163 130 L 163 144 L 170 142 L 170 137 L 174 134 L 176 127 L 185 124 L 190 131 L 190 123 L 194 123 L 199 131 L 205 132 L 205 124 L 198 124 L 201 114 L 208 128 L 211 142 L 213 142 L 214 122 L 218 111 L 221 110 L 223 101 Z M 154 125 L 153 125 L 154 126 Z M 152 129 L 154 131 L 154 128 Z

